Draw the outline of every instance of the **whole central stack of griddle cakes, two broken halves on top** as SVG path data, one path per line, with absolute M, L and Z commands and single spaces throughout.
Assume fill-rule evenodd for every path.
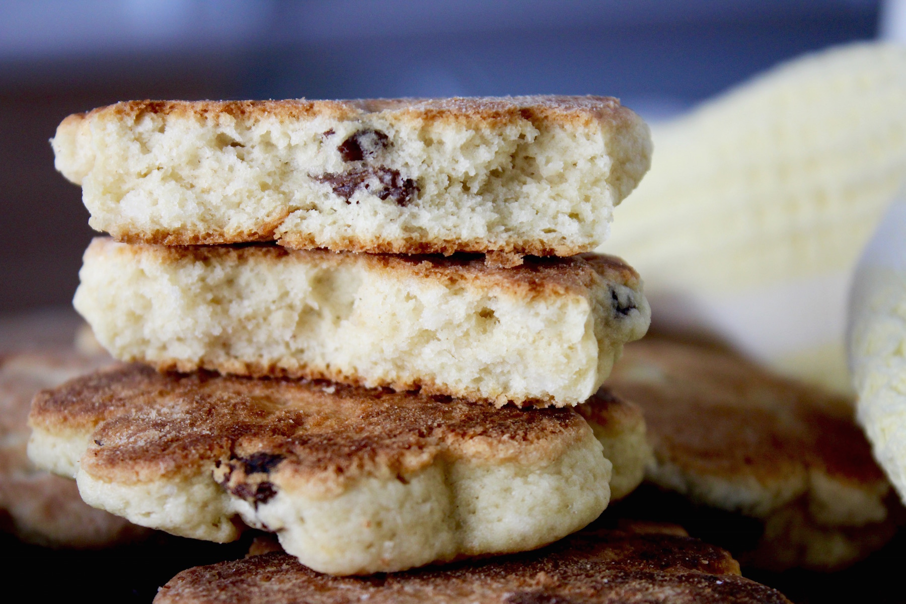
M 652 459 L 601 388 L 650 321 L 589 253 L 651 160 L 619 102 L 133 101 L 52 142 L 112 235 L 74 303 L 124 362 L 39 393 L 29 457 L 283 550 L 162 601 L 786 601 L 673 528 L 584 528 Z

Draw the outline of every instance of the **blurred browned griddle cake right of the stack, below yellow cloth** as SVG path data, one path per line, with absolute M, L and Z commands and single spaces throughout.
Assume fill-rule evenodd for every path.
M 833 570 L 892 537 L 891 487 L 847 399 L 668 339 L 626 347 L 607 387 L 642 408 L 648 481 L 762 524 L 740 561 Z

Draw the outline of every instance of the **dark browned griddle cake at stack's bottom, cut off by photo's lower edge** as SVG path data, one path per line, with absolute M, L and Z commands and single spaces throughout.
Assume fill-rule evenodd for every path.
M 727 551 L 676 534 L 594 527 L 541 551 L 365 578 L 309 570 L 280 552 L 180 572 L 155 602 L 786 602 L 738 576 Z

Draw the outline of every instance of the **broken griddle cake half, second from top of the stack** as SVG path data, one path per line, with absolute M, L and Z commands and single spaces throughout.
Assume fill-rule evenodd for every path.
M 120 360 L 158 369 L 576 405 L 648 329 L 639 275 L 582 254 L 451 257 L 95 239 L 74 304 Z

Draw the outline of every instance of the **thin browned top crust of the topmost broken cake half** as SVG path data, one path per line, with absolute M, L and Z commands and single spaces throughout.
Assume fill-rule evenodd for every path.
M 390 120 L 443 121 L 474 128 L 505 125 L 512 120 L 545 120 L 583 127 L 592 120 L 634 119 L 620 101 L 601 96 L 521 96 L 450 99 L 358 99 L 352 101 L 123 101 L 87 113 L 73 114 L 63 124 L 79 120 L 135 120 L 142 113 L 217 121 L 220 115 L 254 122 L 264 118 L 310 120 L 315 117 L 354 120 L 381 113 Z

